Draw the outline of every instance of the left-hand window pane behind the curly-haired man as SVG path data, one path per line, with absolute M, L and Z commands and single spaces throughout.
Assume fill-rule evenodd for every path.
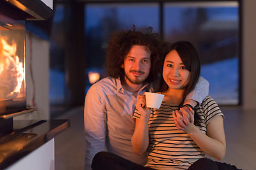
M 115 30 L 136 26 L 137 30 L 153 27 L 159 32 L 159 6 L 150 4 L 87 4 L 85 6 L 85 36 L 87 75 L 100 73 L 106 77 L 105 48 Z M 93 74 L 92 74 L 93 75 Z M 90 79 L 90 77 L 89 77 Z M 86 90 L 91 83 L 87 81 Z

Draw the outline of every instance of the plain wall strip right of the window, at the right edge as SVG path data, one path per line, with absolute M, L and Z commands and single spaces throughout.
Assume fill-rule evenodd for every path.
M 256 110 L 256 1 L 242 5 L 242 107 Z

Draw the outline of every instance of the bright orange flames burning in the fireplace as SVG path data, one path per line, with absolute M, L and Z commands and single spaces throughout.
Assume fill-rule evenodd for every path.
M 20 91 L 25 77 L 23 63 L 16 55 L 17 44 L 9 45 L 4 38 L 0 37 L 0 97 L 20 97 Z

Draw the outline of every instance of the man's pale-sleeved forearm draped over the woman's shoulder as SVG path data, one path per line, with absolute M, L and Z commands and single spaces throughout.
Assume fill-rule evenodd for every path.
M 186 96 L 184 105 L 190 104 L 195 107 L 198 103 L 201 104 L 203 99 L 209 94 L 209 82 L 203 77 L 199 77 L 196 87 L 191 93 Z

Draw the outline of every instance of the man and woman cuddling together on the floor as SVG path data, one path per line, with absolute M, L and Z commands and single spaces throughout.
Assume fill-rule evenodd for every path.
M 223 114 L 207 96 L 208 82 L 199 78 L 196 50 L 189 42 L 177 42 L 163 57 L 159 47 L 160 41 L 151 30 L 144 34 L 132 28 L 110 40 L 110 77 L 93 84 L 85 98 L 85 169 L 90 169 L 98 152 L 93 169 L 114 169 L 108 163 L 116 164 L 117 169 L 187 169 L 198 159 L 196 164 L 217 166 L 210 159 L 200 159 L 204 152 L 224 157 Z M 164 63 L 160 89 L 154 88 L 158 63 Z M 145 91 L 165 94 L 159 110 L 144 106 Z M 198 103 L 201 105 L 193 111 Z M 186 152 L 184 147 L 188 147 Z M 106 162 L 108 159 L 115 162 Z

